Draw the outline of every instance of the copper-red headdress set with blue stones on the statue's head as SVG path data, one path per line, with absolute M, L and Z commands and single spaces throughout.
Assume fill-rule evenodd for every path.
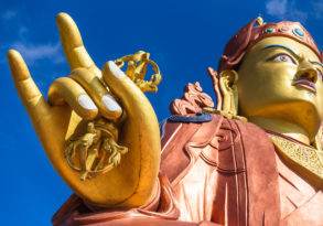
M 247 49 L 269 36 L 287 36 L 295 40 L 310 47 L 322 62 L 322 52 L 319 51 L 311 34 L 299 22 L 263 23 L 261 18 L 257 18 L 240 29 L 226 44 L 218 71 L 235 68 L 240 63 Z

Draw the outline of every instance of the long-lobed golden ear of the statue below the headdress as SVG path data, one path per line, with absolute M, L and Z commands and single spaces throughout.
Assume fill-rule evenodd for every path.
M 238 73 L 226 69 L 219 74 L 219 89 L 223 96 L 222 110 L 233 116 L 238 114 Z

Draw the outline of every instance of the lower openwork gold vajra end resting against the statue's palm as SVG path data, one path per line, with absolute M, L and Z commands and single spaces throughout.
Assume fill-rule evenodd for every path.
M 80 173 L 80 180 L 106 173 L 120 164 L 127 147 L 119 146 L 118 130 L 105 119 L 87 123 L 85 134 L 71 139 L 65 149 L 68 165 Z

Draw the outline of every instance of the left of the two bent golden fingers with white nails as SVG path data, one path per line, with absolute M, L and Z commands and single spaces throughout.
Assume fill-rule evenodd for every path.
M 68 104 L 82 118 L 90 120 L 98 115 L 98 108 L 80 85 L 68 77 L 54 80 L 49 89 L 51 105 Z

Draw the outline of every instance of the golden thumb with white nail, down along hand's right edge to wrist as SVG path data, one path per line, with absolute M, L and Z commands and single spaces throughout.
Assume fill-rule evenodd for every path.
M 114 62 L 105 64 L 103 77 L 127 111 L 120 139 L 129 148 L 127 158 L 133 173 L 138 170 L 139 175 L 136 192 L 122 205 L 140 204 L 151 197 L 158 177 L 161 151 L 158 119 L 148 98 Z

